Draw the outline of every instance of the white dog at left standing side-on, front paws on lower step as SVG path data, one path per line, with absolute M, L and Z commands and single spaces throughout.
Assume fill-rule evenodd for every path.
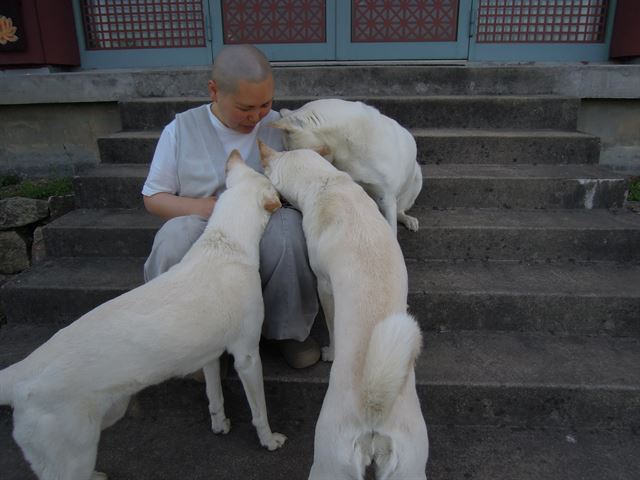
M 206 230 L 169 271 L 85 314 L 0 372 L 0 404 L 41 480 L 106 478 L 94 471 L 100 431 L 129 398 L 170 377 L 204 369 L 212 429 L 230 428 L 219 356 L 234 356 L 260 443 L 286 437 L 267 420 L 258 342 L 263 321 L 259 241 L 280 206 L 273 185 L 234 151 L 227 187 Z

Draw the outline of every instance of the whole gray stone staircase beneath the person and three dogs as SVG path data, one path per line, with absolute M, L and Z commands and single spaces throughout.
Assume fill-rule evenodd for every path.
M 626 179 L 598 166 L 599 140 L 576 131 L 579 99 L 526 92 L 507 73 L 480 93 L 462 76 L 459 87 L 443 80 L 437 94 L 350 96 L 332 75 L 313 92 L 366 101 L 418 142 L 424 188 L 413 214 L 421 228 L 400 229 L 399 240 L 424 331 L 416 375 L 431 440 L 427 472 L 635 479 L 640 215 L 624 208 Z M 292 83 L 275 108 L 314 98 Z M 77 209 L 45 228 L 48 258 L 0 291 L 8 317 L 0 367 L 142 282 L 160 226 L 142 209 L 148 162 L 162 126 L 206 101 L 120 102 L 123 131 L 101 138 L 102 164 L 75 179 Z M 321 325 L 313 334 L 326 336 Z M 263 362 L 271 425 L 290 439 L 283 450 L 260 449 L 231 373 L 227 437 L 208 431 L 203 386 L 171 380 L 143 391 L 104 432 L 99 468 L 113 479 L 306 478 L 329 366 L 294 371 L 268 345 Z M 10 425 L 4 408 L 2 478 L 32 478 Z

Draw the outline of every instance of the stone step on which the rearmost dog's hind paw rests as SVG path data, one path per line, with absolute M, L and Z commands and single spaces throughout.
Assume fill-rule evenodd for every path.
M 400 227 L 410 260 L 640 261 L 640 215 L 626 210 L 416 207 Z M 162 221 L 144 209 L 77 209 L 44 227 L 54 257 L 146 256 Z

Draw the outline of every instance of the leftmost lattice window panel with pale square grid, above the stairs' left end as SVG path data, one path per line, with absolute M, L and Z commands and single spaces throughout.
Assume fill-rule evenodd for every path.
M 81 0 L 87 50 L 206 46 L 202 0 Z

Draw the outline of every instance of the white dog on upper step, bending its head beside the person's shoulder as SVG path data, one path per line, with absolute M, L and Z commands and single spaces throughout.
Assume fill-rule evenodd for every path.
M 422 189 L 416 142 L 398 122 L 362 102 L 336 98 L 314 100 L 272 125 L 285 132 L 287 149 L 312 148 L 347 172 L 375 200 L 397 230 L 397 222 L 418 230 L 418 219 L 406 214 Z

